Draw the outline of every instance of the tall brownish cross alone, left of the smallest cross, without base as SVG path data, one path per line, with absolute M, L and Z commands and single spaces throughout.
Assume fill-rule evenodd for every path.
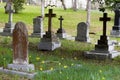
M 52 31 L 52 17 L 56 17 L 56 14 L 53 14 L 53 10 L 49 9 L 49 13 L 45 14 L 45 17 L 48 17 L 48 32 Z

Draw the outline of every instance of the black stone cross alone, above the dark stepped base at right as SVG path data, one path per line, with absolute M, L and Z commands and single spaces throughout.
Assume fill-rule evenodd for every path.
M 110 18 L 107 17 L 107 13 L 103 14 L 103 17 L 100 17 L 100 21 L 103 21 L 103 36 L 106 36 L 106 26 L 107 21 L 110 21 Z

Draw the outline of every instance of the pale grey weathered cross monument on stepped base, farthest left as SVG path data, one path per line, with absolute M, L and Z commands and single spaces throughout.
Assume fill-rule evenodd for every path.
M 3 29 L 2 35 L 11 35 L 12 30 L 14 28 L 14 24 L 12 23 L 12 16 L 13 16 L 13 7 L 11 0 L 8 2 L 6 6 L 6 11 L 9 14 L 8 23 L 5 23 L 5 28 Z

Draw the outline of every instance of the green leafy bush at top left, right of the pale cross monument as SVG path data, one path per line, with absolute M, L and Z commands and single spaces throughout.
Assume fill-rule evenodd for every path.
M 15 13 L 18 13 L 19 11 L 24 9 L 23 8 L 24 3 L 25 3 L 25 0 L 13 0 Z

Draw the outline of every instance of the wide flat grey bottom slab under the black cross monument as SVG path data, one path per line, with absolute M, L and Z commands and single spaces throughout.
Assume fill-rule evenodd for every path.
M 112 52 L 98 52 L 98 51 L 90 51 L 90 52 L 84 52 L 84 57 L 89 59 L 99 59 L 99 60 L 105 60 L 105 59 L 113 59 L 117 56 L 120 56 L 120 52 L 112 51 Z

